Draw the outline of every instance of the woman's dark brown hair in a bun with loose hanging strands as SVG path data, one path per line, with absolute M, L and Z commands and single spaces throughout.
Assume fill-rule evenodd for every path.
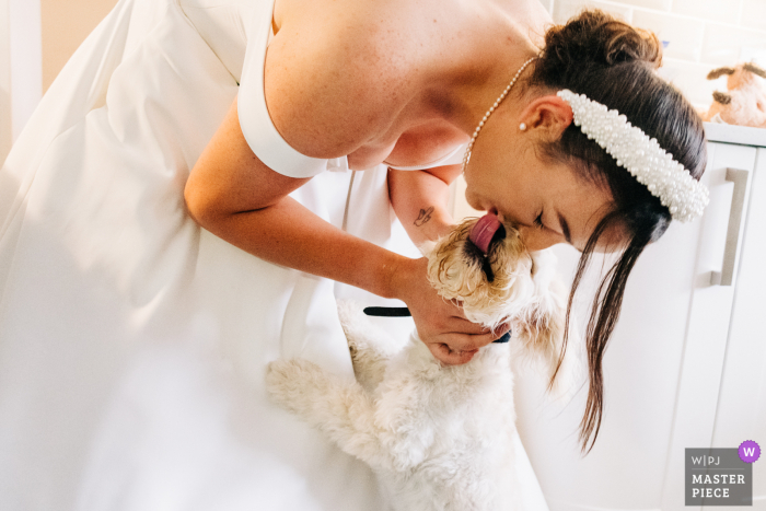
M 707 160 L 703 121 L 683 95 L 657 74 L 661 60 L 662 48 L 654 34 L 602 11 L 588 10 L 546 32 L 545 49 L 535 61 L 526 86 L 569 89 L 617 109 L 699 179 Z M 643 248 L 665 232 L 671 214 L 659 198 L 573 124 L 560 140 L 541 150 L 544 156 L 568 162 L 583 178 L 607 187 L 614 198 L 613 210 L 596 225 L 580 258 L 567 306 L 567 327 L 574 293 L 600 237 L 613 225 L 627 232 L 619 258 L 596 291 L 588 323 L 590 388 L 580 422 L 584 451 L 591 434 L 593 449 L 601 427 L 602 360 L 619 316 L 628 275 Z M 565 337 L 562 350 L 566 345 Z M 552 383 L 554 379 L 555 374 Z

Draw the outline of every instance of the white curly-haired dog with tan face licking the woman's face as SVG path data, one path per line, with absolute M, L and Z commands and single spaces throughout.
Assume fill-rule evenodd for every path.
M 429 279 L 444 299 L 460 301 L 469 320 L 489 327 L 510 321 L 511 342 L 490 344 L 471 362 L 446 367 L 417 333 L 402 349 L 359 307 L 340 303 L 356 382 L 307 360 L 269 365 L 274 399 L 369 464 L 396 511 L 520 510 L 511 358 L 542 361 L 558 396 L 578 374 L 571 348 L 558 363 L 566 298 L 555 256 L 527 253 L 507 227 L 485 255 L 468 240 L 476 223 L 469 219 L 423 249 Z

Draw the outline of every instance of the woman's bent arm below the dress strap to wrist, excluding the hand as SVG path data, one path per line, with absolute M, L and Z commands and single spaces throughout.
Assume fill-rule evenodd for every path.
M 185 198 L 200 225 L 262 259 L 393 297 L 393 267 L 404 258 L 372 248 L 287 197 L 309 181 L 283 176 L 257 159 L 240 129 L 235 101 L 192 170 Z

